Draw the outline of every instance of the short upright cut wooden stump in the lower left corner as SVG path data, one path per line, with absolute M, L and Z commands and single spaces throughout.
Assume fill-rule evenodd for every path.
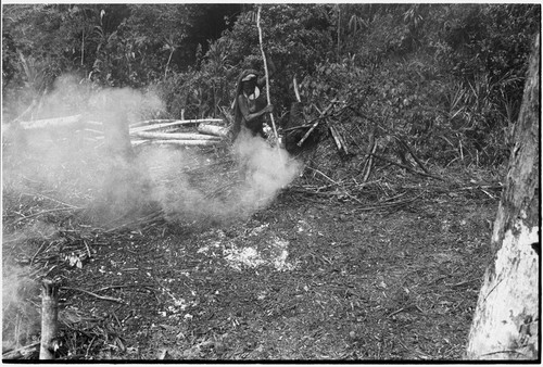
M 41 289 L 41 346 L 40 359 L 54 359 L 59 349 L 59 286 L 50 279 L 43 279 Z

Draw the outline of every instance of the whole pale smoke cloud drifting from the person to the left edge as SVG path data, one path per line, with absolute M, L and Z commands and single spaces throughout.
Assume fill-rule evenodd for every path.
M 92 207 L 98 225 L 113 218 L 112 203 L 114 214 L 122 216 L 142 202 L 154 202 L 168 220 L 187 225 L 245 219 L 269 205 L 300 172 L 301 164 L 283 149 L 253 137 L 240 137 L 218 156 L 217 151 L 147 145 L 125 160 L 108 148 L 103 130 L 113 123 L 112 116 L 123 115 L 124 123 L 130 124 L 161 113 L 164 104 L 153 92 L 94 89 L 68 75 L 59 78 L 35 112 L 22 119 L 81 115 L 80 123 L 24 129 L 2 119 L 2 232 L 10 239 L 9 249 L 54 238 L 62 224 L 40 222 L 40 217 L 16 220 L 22 213 L 51 207 Z M 10 264 L 5 243 L 3 284 L 9 287 L 3 288 L 2 309 L 4 317 L 11 317 L 29 282 L 17 270 L 21 267 Z M 14 330 L 11 325 L 4 339 Z

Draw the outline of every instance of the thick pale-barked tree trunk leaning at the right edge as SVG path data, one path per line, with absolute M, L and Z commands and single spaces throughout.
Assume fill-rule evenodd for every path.
M 506 189 L 494 231 L 494 258 L 484 275 L 468 359 L 539 358 L 540 37 L 536 37 L 515 126 Z

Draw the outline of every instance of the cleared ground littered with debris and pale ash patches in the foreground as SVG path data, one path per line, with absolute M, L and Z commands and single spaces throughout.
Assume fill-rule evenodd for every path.
M 66 275 L 63 347 L 96 359 L 458 359 L 496 208 L 469 191 L 367 212 L 285 190 L 245 223 L 126 231 Z

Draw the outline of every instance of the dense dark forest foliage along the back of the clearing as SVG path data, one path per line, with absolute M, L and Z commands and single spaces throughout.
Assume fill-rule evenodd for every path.
M 5 121 L 66 74 L 92 88 L 157 91 L 162 115 L 222 116 L 239 73 L 262 69 L 250 4 L 2 10 Z M 272 99 L 285 116 L 279 125 L 288 123 L 296 77 L 307 115 L 341 102 L 348 106 L 341 118 L 363 136 L 408 137 L 422 159 L 440 164 L 498 164 L 540 15 L 539 4 L 264 5 L 264 48 L 278 69 Z

